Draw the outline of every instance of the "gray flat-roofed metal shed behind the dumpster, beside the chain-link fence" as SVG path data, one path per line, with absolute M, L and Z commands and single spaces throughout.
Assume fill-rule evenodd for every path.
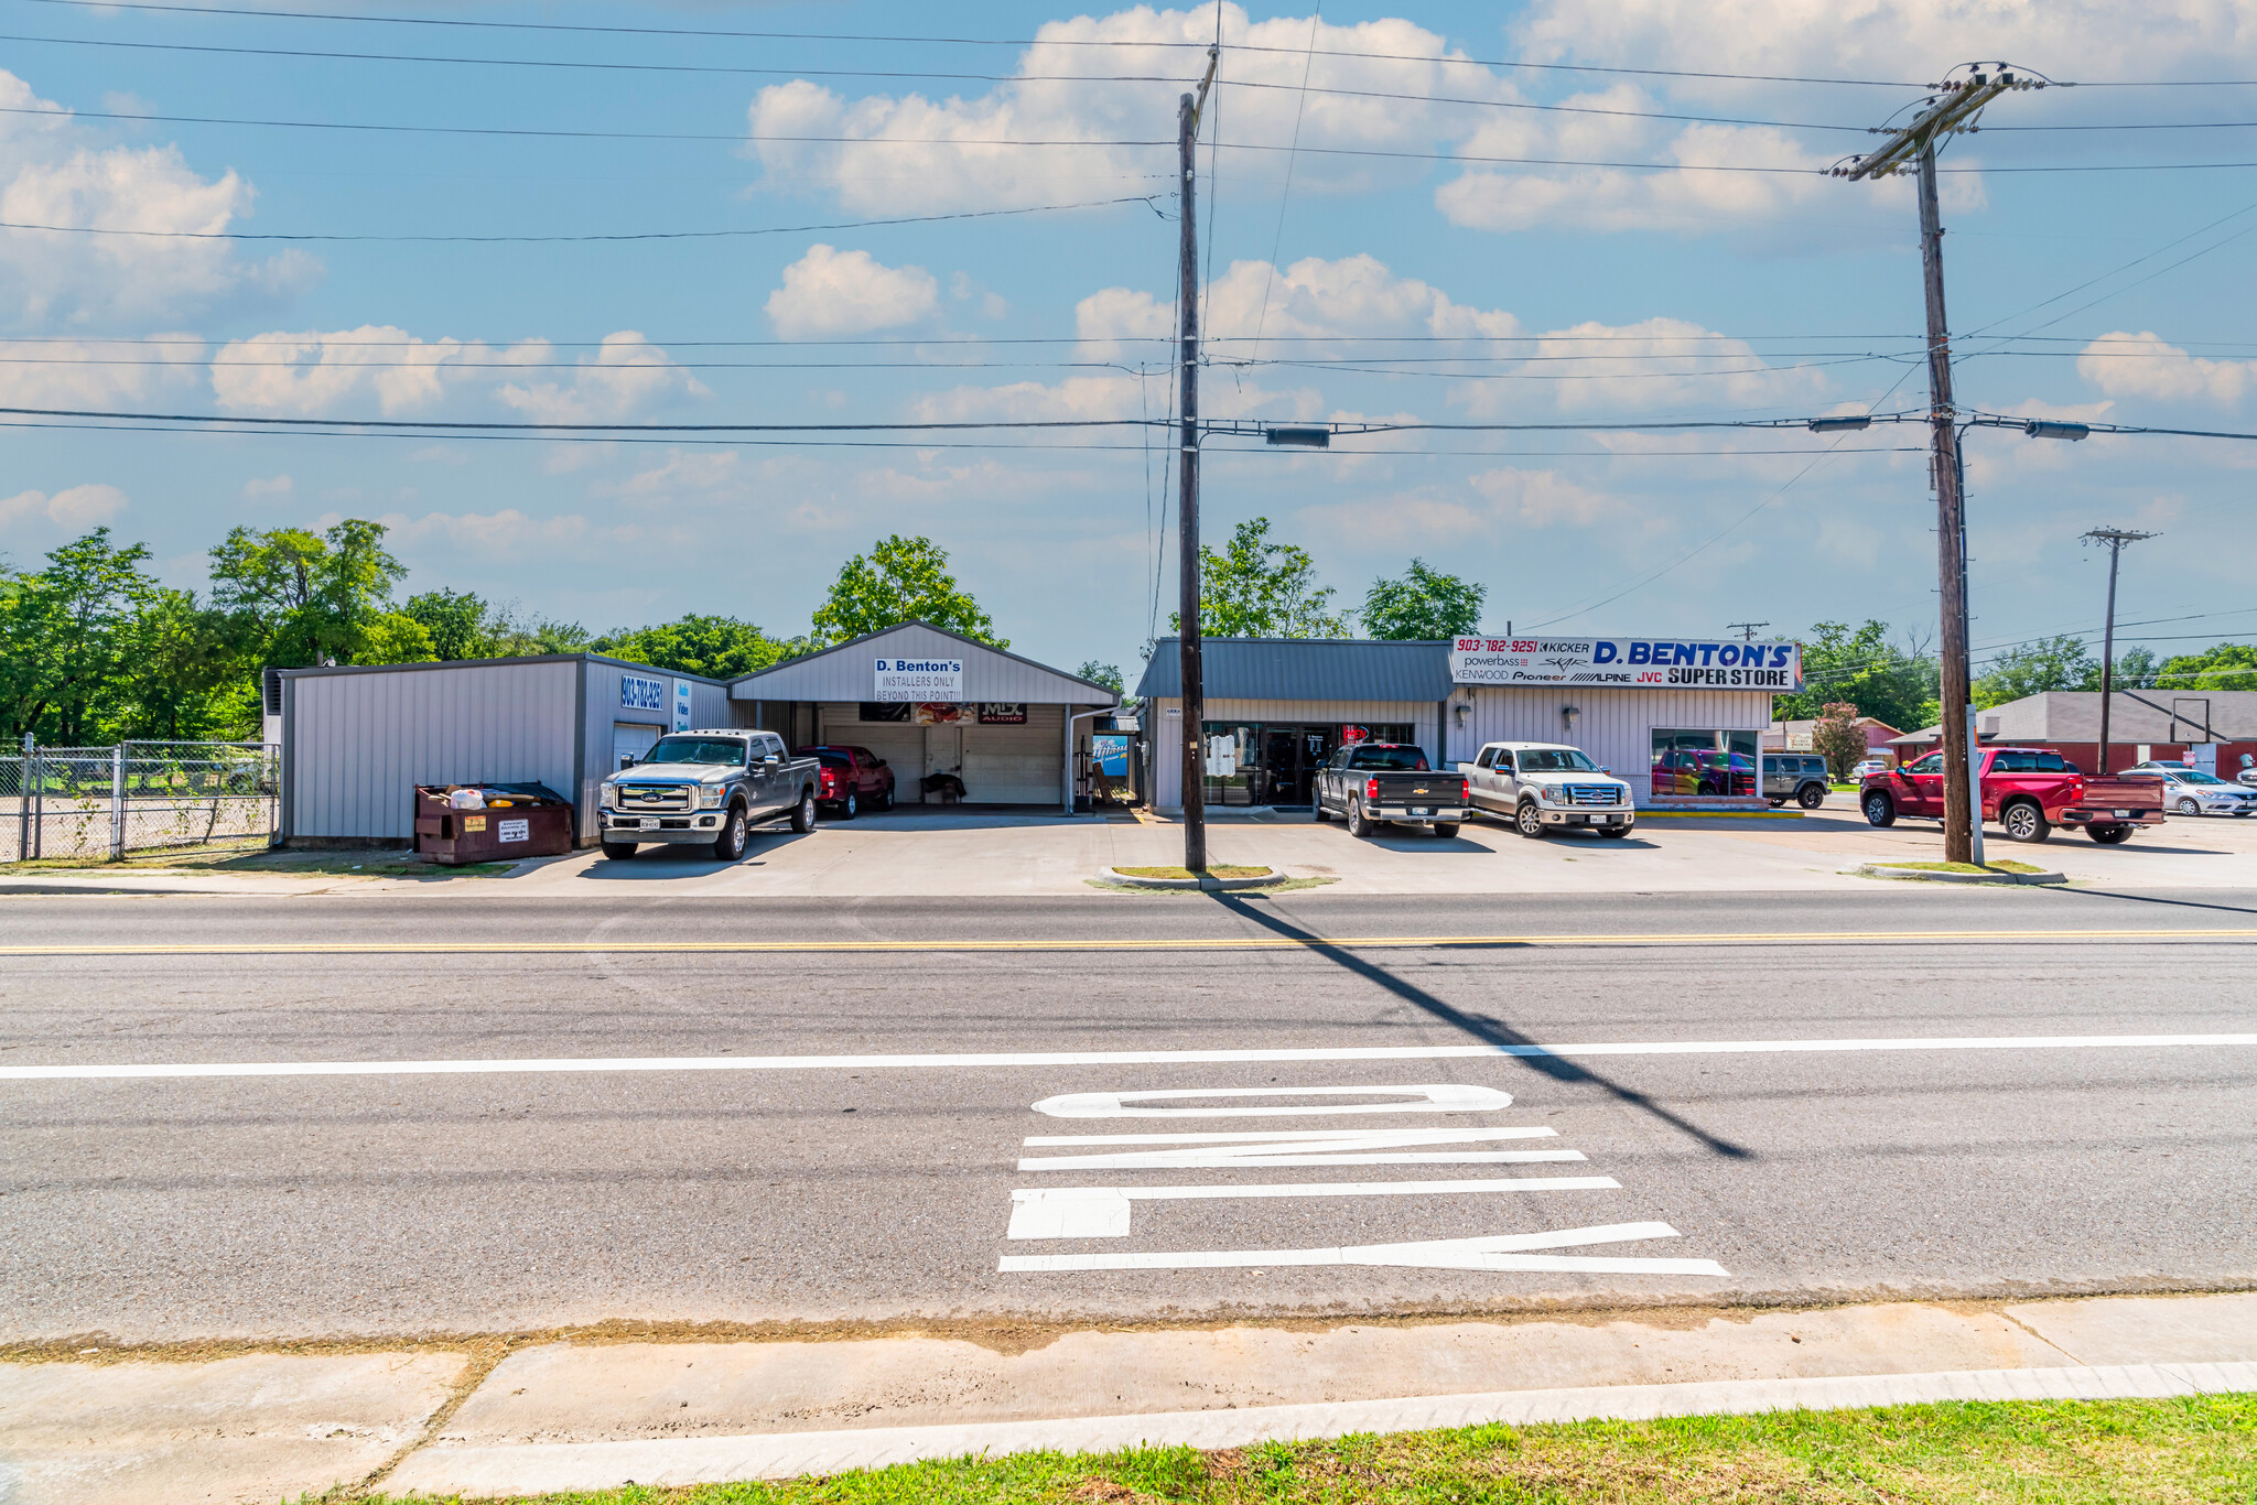
M 280 670 L 282 842 L 404 844 L 420 783 L 537 781 L 596 839 L 596 785 L 661 733 L 736 727 L 718 679 L 605 659 L 465 659 Z M 749 711 L 749 706 L 745 706 Z

